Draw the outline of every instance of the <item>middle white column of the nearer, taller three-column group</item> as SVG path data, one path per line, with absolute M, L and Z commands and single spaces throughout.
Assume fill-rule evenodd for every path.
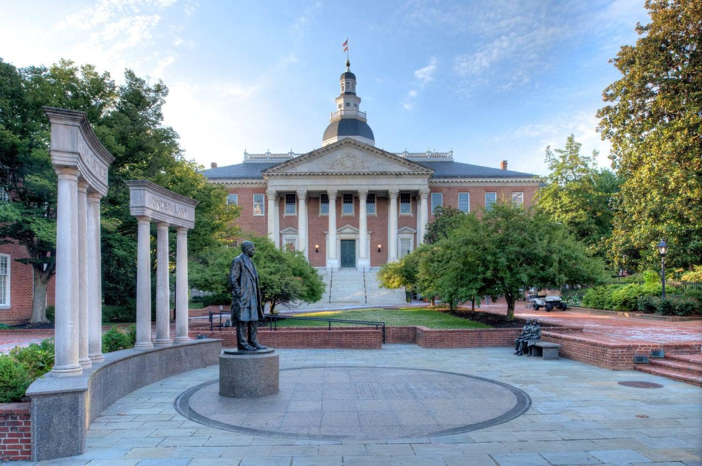
M 88 357 L 88 183 L 78 182 L 78 364 L 93 366 Z

